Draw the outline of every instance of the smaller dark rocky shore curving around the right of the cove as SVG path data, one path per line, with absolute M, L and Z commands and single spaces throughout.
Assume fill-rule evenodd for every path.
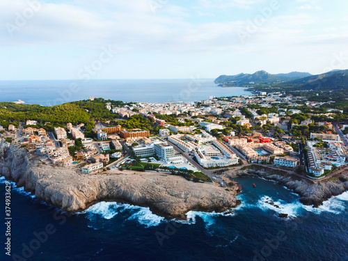
M 299 196 L 301 196 L 300 201 L 304 205 L 314 205 L 315 207 L 322 205 L 325 200 L 332 196 L 338 196 L 343 192 L 348 191 L 347 173 L 338 174 L 337 177 L 334 177 L 333 179 L 321 182 L 311 182 L 303 180 L 300 177 L 294 178 L 290 175 L 276 174 L 274 172 L 276 171 L 269 171 L 268 168 L 263 168 L 258 171 L 248 169 L 247 171 L 231 173 L 230 177 L 237 177 L 240 175 L 258 175 L 267 180 L 274 180 L 299 194 Z

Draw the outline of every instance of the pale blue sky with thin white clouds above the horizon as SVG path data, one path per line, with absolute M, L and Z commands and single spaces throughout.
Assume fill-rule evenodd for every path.
M 3 0 L 0 80 L 348 68 L 347 0 Z

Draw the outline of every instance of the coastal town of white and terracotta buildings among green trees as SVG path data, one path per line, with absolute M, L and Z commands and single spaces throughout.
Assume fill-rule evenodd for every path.
M 306 97 L 260 92 L 200 102 L 120 106 L 94 97 L 85 102 L 102 103 L 111 118 L 64 125 L 2 120 L 1 136 L 42 164 L 77 168 L 84 175 L 158 171 L 221 187 L 232 182 L 219 173 L 248 165 L 322 180 L 347 163 L 348 125 L 338 122 L 343 111 L 323 109 L 324 102 Z

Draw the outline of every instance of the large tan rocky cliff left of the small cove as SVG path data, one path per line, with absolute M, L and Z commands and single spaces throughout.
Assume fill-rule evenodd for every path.
M 186 219 L 190 210 L 223 212 L 237 205 L 235 193 L 160 173 L 84 175 L 74 169 L 45 166 L 26 150 L 0 140 L 0 175 L 68 212 L 103 200 L 148 206 L 161 216 Z

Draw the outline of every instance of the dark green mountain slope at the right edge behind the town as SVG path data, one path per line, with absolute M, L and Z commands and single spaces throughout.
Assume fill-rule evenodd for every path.
M 298 86 L 308 90 L 340 90 L 348 88 L 348 70 L 333 70 L 324 74 L 312 75 L 287 81 L 287 86 Z

